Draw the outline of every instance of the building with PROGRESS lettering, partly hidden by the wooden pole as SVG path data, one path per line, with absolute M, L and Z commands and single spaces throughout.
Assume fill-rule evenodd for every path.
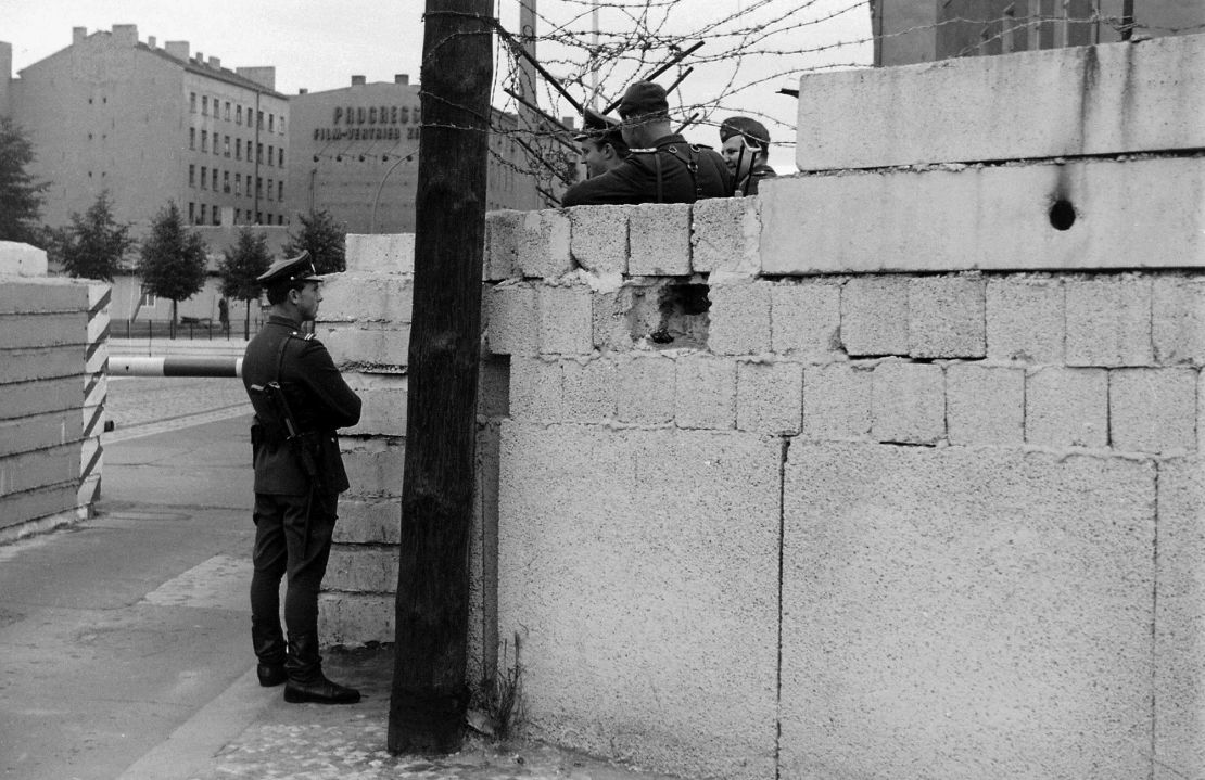
M 542 208 L 516 117 L 490 116 L 486 208 Z M 294 212 L 327 211 L 353 234 L 413 232 L 421 124 L 418 87 L 405 75 L 290 96 L 284 191 Z

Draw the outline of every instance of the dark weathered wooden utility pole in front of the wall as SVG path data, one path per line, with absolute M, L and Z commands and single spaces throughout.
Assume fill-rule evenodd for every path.
M 460 749 L 469 687 L 490 0 L 427 0 L 415 308 L 389 705 L 393 754 Z

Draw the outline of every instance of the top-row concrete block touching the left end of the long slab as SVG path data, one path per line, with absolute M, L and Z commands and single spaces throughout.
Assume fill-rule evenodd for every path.
M 690 266 L 696 273 L 757 276 L 762 271 L 758 197 L 709 197 L 694 203 Z

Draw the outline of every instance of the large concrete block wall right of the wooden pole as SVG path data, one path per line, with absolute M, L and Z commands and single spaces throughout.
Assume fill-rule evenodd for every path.
M 1205 42 L 1159 46 L 834 75 L 758 199 L 487 218 L 475 642 L 521 636 L 530 733 L 1200 775 Z

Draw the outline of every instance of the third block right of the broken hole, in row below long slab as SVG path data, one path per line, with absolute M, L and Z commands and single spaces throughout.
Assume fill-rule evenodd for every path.
M 853 355 L 906 355 L 909 279 L 854 277 L 841 288 L 841 343 Z

